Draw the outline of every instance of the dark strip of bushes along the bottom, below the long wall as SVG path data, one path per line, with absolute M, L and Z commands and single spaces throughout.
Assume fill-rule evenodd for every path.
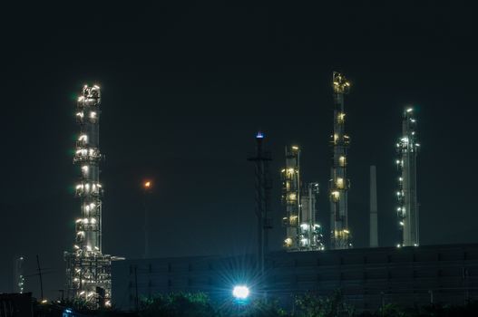
M 62 316 L 64 305 L 41 304 L 35 316 Z M 62 308 L 63 307 L 63 308 Z M 123 317 L 452 317 L 478 316 L 478 302 L 465 305 L 428 305 L 403 308 L 393 303 L 385 304 L 376 312 L 356 312 L 346 303 L 342 293 L 330 296 L 305 293 L 294 299 L 293 307 L 282 307 L 278 301 L 259 297 L 251 301 L 213 303 L 206 293 L 158 294 L 150 299 L 141 299 L 139 312 L 117 312 L 112 310 L 88 311 L 83 303 L 68 303 L 75 307 L 74 316 L 123 316 Z

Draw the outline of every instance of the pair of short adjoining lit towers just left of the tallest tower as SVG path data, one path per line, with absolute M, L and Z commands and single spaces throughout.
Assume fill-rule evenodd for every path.
M 317 224 L 318 183 L 302 187 L 300 149 L 286 147 L 286 167 L 282 169 L 282 203 L 286 226 L 284 248 L 288 251 L 323 250 L 322 230 Z

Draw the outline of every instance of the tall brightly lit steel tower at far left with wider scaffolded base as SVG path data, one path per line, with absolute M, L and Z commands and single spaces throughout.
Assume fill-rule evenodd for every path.
M 73 252 L 67 261 L 67 295 L 91 307 L 111 305 L 111 255 L 102 254 L 102 185 L 99 164 L 100 87 L 85 85 L 76 105 L 81 130 L 76 141 L 73 163 L 80 168 L 76 197 L 81 216 L 75 221 Z

